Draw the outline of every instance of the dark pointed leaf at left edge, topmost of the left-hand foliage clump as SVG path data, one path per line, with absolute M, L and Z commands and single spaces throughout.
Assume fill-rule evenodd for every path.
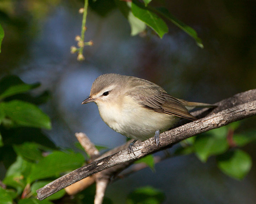
M 21 94 L 38 87 L 40 84 L 26 84 L 15 75 L 7 75 L 0 80 L 0 100 L 16 94 Z

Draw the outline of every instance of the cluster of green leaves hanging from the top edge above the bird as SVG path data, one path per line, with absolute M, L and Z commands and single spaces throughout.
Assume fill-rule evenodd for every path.
M 197 33 L 193 28 L 177 19 L 167 10 L 167 8 L 150 6 L 150 2 L 151 0 L 91 0 L 89 1 L 89 6 L 92 10 L 102 16 L 106 16 L 108 12 L 117 7 L 127 18 L 132 36 L 145 32 L 146 26 L 148 26 L 162 38 L 164 34 L 169 31 L 165 20 L 170 21 L 190 35 L 196 41 L 197 45 L 203 48 L 202 40 L 197 36 Z

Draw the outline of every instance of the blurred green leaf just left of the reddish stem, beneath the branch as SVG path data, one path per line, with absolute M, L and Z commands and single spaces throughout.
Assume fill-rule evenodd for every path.
M 194 151 L 202 162 L 206 162 L 211 155 L 221 154 L 227 149 L 228 142 L 225 137 L 201 135 L 197 136 L 194 143 Z

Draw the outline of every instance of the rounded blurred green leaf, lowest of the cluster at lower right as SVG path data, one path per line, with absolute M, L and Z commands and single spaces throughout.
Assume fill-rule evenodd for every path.
M 224 174 L 235 179 L 243 179 L 251 169 L 252 159 L 246 152 L 236 149 L 217 157 L 217 163 Z

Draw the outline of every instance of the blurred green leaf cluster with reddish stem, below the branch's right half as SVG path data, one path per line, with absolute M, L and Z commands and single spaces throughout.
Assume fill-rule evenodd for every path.
M 214 157 L 218 168 L 226 175 L 241 180 L 251 169 L 251 156 L 241 148 L 256 141 L 255 131 L 235 133 L 240 122 L 234 122 L 219 129 L 188 138 L 182 141 L 175 155 L 194 153 L 203 163 Z

